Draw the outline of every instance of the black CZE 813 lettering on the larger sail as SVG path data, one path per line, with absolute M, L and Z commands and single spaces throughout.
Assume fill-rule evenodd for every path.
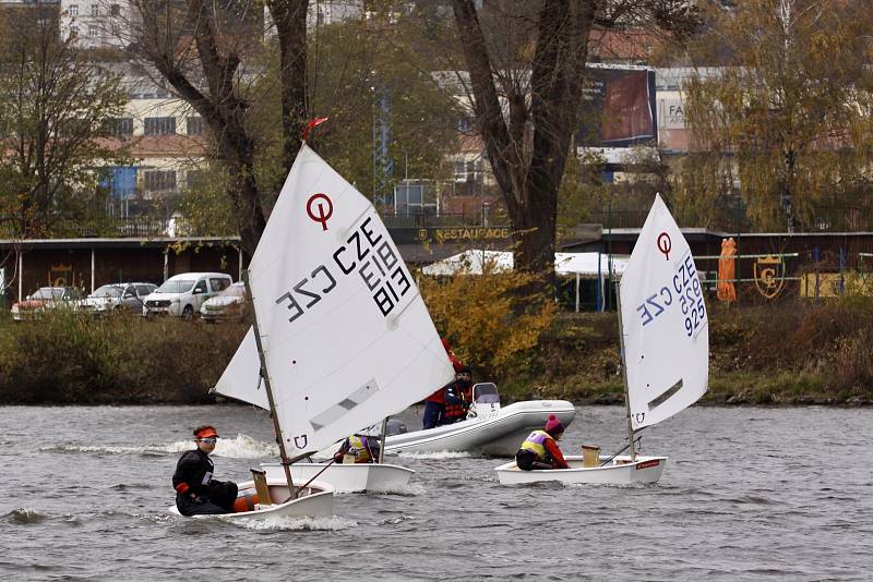
M 338 280 L 354 272 L 367 286 L 383 316 L 387 316 L 411 289 L 404 263 L 394 251 L 387 233 L 375 232 L 371 222 L 372 217 L 368 217 L 346 239 L 346 243 L 334 251 L 333 264 L 319 265 L 309 277 L 303 277 L 276 299 L 276 304 L 286 303 L 291 312 L 288 322 L 294 323 L 333 291 Z M 336 271 L 337 268 L 342 276 Z

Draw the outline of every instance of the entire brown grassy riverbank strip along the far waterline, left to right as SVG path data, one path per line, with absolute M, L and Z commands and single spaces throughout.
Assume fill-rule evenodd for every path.
M 58 313 L 0 322 L 0 403 L 204 403 L 247 325 Z M 504 401 L 623 402 L 614 313 L 561 314 L 524 369 L 493 379 Z M 873 302 L 710 304 L 706 404 L 873 404 Z

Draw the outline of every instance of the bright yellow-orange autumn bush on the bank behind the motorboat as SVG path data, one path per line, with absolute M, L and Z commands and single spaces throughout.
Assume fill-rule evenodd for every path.
M 474 368 L 474 381 L 526 365 L 557 311 L 554 301 L 531 291 L 542 289 L 537 276 L 498 272 L 494 265 L 483 270 L 419 280 L 436 329 Z

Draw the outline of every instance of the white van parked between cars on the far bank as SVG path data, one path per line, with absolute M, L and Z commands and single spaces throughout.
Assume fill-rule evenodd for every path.
M 204 301 L 224 291 L 234 280 L 224 272 L 174 275 L 145 298 L 143 316 L 172 315 L 192 319 Z

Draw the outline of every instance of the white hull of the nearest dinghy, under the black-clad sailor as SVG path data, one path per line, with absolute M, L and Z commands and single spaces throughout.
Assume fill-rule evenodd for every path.
M 288 498 L 288 485 L 285 477 L 270 478 L 270 495 L 274 500 Z M 238 485 L 239 490 L 254 493 L 254 482 L 246 481 Z M 230 522 L 261 521 L 275 518 L 330 518 L 334 511 L 334 487 L 324 482 L 313 481 L 309 487 L 302 489 L 296 499 L 289 499 L 284 504 L 272 506 L 255 506 L 254 511 L 242 511 L 239 513 L 223 513 L 219 516 L 190 516 L 193 519 L 219 519 Z M 179 513 L 176 506 L 169 508 L 170 513 L 184 517 Z

